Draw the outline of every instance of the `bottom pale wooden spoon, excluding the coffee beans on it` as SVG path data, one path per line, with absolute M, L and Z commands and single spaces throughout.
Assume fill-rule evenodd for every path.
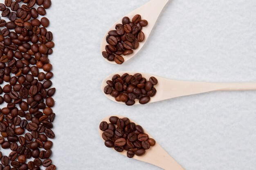
M 119 116 L 119 115 L 114 115 L 114 116 L 117 116 L 119 118 L 124 118 L 123 116 Z M 109 118 L 110 118 L 110 116 L 105 117 L 102 121 L 106 121 L 106 122 L 110 123 Z M 135 121 L 133 121 L 131 119 L 130 119 L 130 122 L 134 122 L 135 124 L 137 124 Z M 101 139 L 103 141 L 105 141 L 102 138 L 102 133 L 103 133 L 103 131 L 101 131 L 99 129 L 99 135 L 100 135 Z M 145 129 L 144 129 L 144 133 L 148 134 L 149 138 L 153 138 Z M 112 148 L 112 149 L 115 150 L 114 148 Z M 115 152 L 117 152 L 117 151 L 115 151 Z M 118 153 L 126 156 L 125 150 L 123 152 L 118 152 Z M 129 159 L 129 158 L 127 158 L 127 159 Z M 141 157 L 134 155 L 133 159 L 151 163 L 152 165 L 163 168 L 164 170 L 184 170 L 157 142 L 156 142 L 155 146 L 151 146 L 148 150 L 146 150 L 145 155 L 143 155 Z

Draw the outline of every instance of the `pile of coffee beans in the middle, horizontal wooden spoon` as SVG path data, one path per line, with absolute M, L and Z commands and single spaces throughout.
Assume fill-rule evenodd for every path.
M 112 80 L 106 83 L 108 85 L 104 88 L 105 94 L 115 97 L 117 102 L 132 106 L 135 104 L 135 99 L 139 99 L 140 104 L 147 104 L 150 97 L 157 93 L 154 85 L 157 85 L 158 81 L 155 77 L 150 77 L 147 81 L 140 73 L 135 75 L 125 73 L 122 76 L 114 75 Z

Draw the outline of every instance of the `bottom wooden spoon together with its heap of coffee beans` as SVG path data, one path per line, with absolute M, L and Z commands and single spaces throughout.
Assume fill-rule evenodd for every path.
M 164 170 L 184 170 L 145 129 L 127 117 L 105 117 L 99 125 L 99 135 L 106 147 L 128 158 Z

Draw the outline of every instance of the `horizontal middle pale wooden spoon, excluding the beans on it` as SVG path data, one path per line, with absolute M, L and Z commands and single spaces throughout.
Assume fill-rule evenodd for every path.
M 101 84 L 101 91 L 102 93 L 108 97 L 108 99 L 117 102 L 115 97 L 111 95 L 106 95 L 104 93 L 104 87 L 107 86 L 106 81 L 111 80 L 113 75 L 119 74 L 120 76 L 124 73 L 128 73 L 130 75 L 134 75 L 134 71 L 123 71 L 109 75 L 106 77 L 102 84 Z M 171 99 L 174 97 L 186 96 L 186 95 L 193 95 L 198 93 L 205 93 L 210 91 L 256 91 L 256 82 L 252 83 L 210 83 L 210 82 L 189 82 L 189 81 L 180 81 L 174 79 L 167 79 L 164 77 L 148 74 L 148 73 L 141 73 L 142 77 L 145 77 L 147 80 L 151 76 L 154 76 L 158 80 L 158 84 L 154 87 L 157 90 L 157 93 L 154 97 L 150 97 L 150 101 L 158 102 L 165 99 Z M 125 104 L 124 102 L 118 102 L 120 104 Z M 135 104 L 139 104 L 139 100 L 135 100 Z

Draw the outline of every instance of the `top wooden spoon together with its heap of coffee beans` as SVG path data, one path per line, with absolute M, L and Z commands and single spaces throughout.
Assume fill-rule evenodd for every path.
M 111 64 L 123 64 L 144 46 L 162 9 L 169 0 L 150 0 L 119 19 L 101 42 L 101 53 Z

